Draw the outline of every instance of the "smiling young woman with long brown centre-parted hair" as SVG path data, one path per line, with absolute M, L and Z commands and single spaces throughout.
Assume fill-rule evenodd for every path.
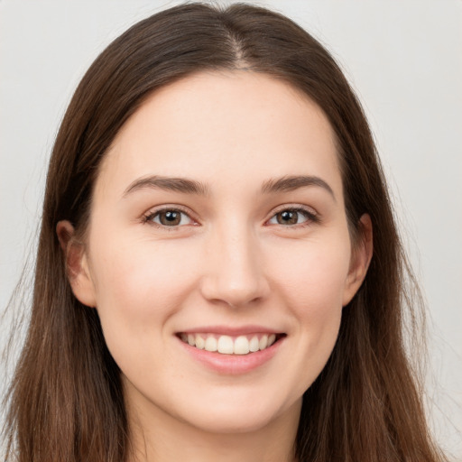
M 182 5 L 60 127 L 12 460 L 443 460 L 365 116 L 281 15 Z

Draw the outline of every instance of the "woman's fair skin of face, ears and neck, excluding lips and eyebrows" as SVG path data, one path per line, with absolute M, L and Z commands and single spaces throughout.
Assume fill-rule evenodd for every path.
M 196 180 L 207 194 L 126 192 L 150 175 Z M 262 190 L 293 175 L 331 191 Z M 152 216 L 164 206 L 185 213 L 179 225 Z M 306 212 L 278 222 L 288 208 Z M 103 161 L 84 245 L 69 222 L 57 227 L 72 289 L 96 307 L 122 371 L 134 460 L 293 460 L 302 394 L 371 258 L 370 220 L 361 222 L 353 245 L 333 131 L 288 84 L 199 73 L 141 106 Z M 285 337 L 245 374 L 212 370 L 177 337 L 255 324 Z

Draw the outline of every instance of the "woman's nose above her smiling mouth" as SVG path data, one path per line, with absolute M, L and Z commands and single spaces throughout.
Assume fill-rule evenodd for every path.
M 207 300 L 239 308 L 264 300 L 270 291 L 258 239 L 239 226 L 217 232 L 207 244 L 200 289 Z

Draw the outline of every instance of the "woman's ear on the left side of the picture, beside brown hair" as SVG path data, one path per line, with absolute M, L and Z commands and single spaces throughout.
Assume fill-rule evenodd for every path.
M 66 273 L 76 298 L 88 307 L 96 307 L 95 285 L 88 267 L 84 245 L 75 237 L 74 226 L 68 220 L 56 225 L 56 234 L 66 262 Z

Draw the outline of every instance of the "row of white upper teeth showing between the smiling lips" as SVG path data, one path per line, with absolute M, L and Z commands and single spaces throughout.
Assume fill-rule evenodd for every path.
M 222 355 L 249 355 L 272 347 L 285 334 L 251 334 L 246 336 L 225 336 L 217 334 L 181 332 L 180 340 L 190 347 L 220 353 Z

